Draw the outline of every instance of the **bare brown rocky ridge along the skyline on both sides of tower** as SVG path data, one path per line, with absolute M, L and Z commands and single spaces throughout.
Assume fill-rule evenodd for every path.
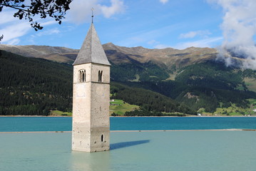
M 103 44 L 109 61 L 119 65 L 121 63 L 148 63 L 152 61 L 158 66 L 180 68 L 193 63 L 200 63 L 215 59 L 217 51 L 214 48 L 174 48 L 149 49 L 141 46 L 126 48 L 113 43 Z M 45 58 L 61 63 L 73 63 L 79 50 L 52 46 L 10 46 L 0 44 L 0 49 L 16 53 L 21 56 Z

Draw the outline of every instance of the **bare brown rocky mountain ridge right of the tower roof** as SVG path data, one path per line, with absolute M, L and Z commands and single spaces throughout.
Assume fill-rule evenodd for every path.
M 217 51 L 214 48 L 185 48 L 178 50 L 175 48 L 149 49 L 141 46 L 135 48 L 126 48 L 115 46 L 113 43 L 103 45 L 104 50 L 110 61 L 115 64 L 132 63 L 138 61 L 140 63 L 148 63 L 152 61 L 158 66 L 167 66 L 167 68 L 180 68 L 193 63 L 200 63 L 215 59 Z

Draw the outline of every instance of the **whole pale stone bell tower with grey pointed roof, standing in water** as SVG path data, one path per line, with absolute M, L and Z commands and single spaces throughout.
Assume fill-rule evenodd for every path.
M 73 63 L 72 150 L 109 150 L 110 66 L 91 24 Z

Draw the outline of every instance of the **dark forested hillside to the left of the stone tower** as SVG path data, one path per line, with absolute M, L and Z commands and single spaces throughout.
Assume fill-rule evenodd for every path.
M 0 56 L 0 115 L 71 111 L 73 68 L 6 51 Z

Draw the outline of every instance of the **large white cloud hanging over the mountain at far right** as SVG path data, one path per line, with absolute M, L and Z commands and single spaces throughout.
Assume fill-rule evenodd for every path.
M 256 1 L 255 0 L 208 0 L 222 6 L 224 11 L 222 33 L 224 41 L 219 51 L 220 58 L 230 64 L 226 50 L 242 54 L 245 58 L 243 68 L 256 69 Z

